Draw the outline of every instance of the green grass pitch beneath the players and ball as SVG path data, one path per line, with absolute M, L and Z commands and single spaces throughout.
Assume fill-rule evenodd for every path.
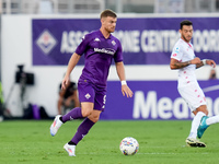
M 64 144 L 81 120 L 65 124 L 55 137 L 53 120 L 7 120 L 0 122 L 0 164 L 215 164 L 219 161 L 219 125 L 212 125 L 201 141 L 207 148 L 187 148 L 191 120 L 99 121 L 68 156 Z M 134 137 L 139 152 L 119 151 L 120 140 Z

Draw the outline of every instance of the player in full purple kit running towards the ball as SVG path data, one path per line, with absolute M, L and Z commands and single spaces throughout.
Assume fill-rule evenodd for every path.
M 56 116 L 50 126 L 50 134 L 55 136 L 66 121 L 84 118 L 73 138 L 64 145 L 69 156 L 76 156 L 76 145 L 99 120 L 101 113 L 105 108 L 106 80 L 113 59 L 122 82 L 123 95 L 132 96 L 132 92 L 126 83 L 120 42 L 111 34 L 115 31 L 116 22 L 116 13 L 112 10 L 104 10 L 101 13 L 101 28 L 87 34 L 69 60 L 66 75 L 62 80 L 62 89 L 66 89 L 71 71 L 84 54 L 85 63 L 78 81 L 81 107 L 76 107 L 64 116 Z

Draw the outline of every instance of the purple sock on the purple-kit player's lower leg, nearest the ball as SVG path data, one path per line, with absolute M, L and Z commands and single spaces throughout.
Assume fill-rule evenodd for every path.
M 74 144 L 78 144 L 79 141 L 83 139 L 83 137 L 89 132 L 89 130 L 93 127 L 95 122 L 91 121 L 89 118 L 85 118 L 82 124 L 79 126 L 78 131 L 71 141 Z

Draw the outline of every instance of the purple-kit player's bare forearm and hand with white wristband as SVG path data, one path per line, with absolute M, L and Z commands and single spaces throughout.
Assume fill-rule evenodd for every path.
M 124 68 L 124 63 L 123 61 L 120 62 L 116 62 L 116 71 L 118 74 L 118 78 L 122 82 L 122 93 L 123 95 L 127 96 L 127 97 L 132 97 L 132 91 L 128 87 L 127 83 L 126 83 L 126 75 L 125 75 L 125 68 Z

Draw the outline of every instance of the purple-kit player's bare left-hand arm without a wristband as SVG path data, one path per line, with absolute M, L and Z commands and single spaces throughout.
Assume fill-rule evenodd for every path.
M 73 68 L 76 67 L 76 65 L 79 62 L 80 58 L 81 58 L 81 56 L 76 52 L 71 56 L 69 63 L 68 63 L 66 74 L 62 80 L 61 90 L 66 90 L 66 84 L 70 81 L 70 73 L 73 70 Z

